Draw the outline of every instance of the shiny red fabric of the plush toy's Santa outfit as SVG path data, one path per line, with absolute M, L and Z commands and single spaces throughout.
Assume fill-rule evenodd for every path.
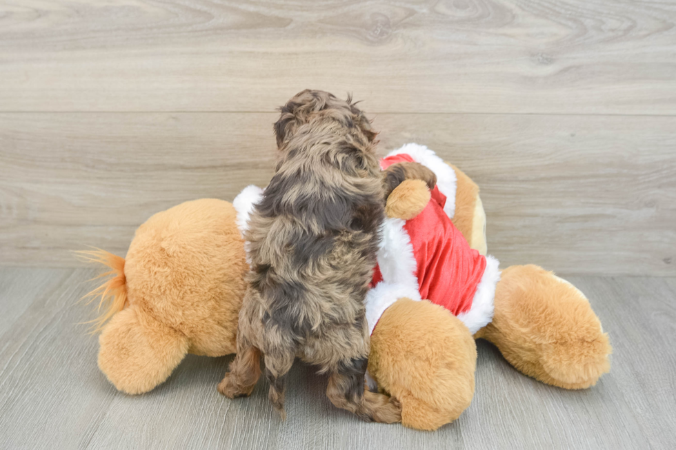
M 406 154 L 381 160 L 381 167 L 401 161 L 413 161 Z M 446 196 L 437 187 L 430 203 L 404 229 L 410 236 L 417 263 L 421 298 L 441 305 L 454 315 L 472 307 L 474 294 L 486 269 L 486 258 L 471 249 L 461 232 L 444 212 Z M 382 280 L 379 267 L 374 270 L 372 284 Z

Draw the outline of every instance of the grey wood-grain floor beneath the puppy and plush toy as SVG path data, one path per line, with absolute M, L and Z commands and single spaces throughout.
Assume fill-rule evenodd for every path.
M 584 391 L 519 374 L 477 342 L 476 393 L 434 433 L 360 422 L 332 407 L 326 378 L 298 363 L 281 422 L 259 382 L 251 398 L 219 396 L 229 357 L 189 356 L 143 396 L 115 391 L 96 366 L 97 339 L 76 325 L 89 269 L 0 269 L 0 309 L 27 305 L 0 328 L 3 449 L 670 449 L 676 425 L 672 345 L 676 279 L 570 277 L 610 334 L 612 369 Z M 21 294 L 17 294 L 21 293 Z

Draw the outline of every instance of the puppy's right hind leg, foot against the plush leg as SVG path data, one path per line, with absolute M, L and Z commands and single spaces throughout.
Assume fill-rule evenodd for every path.
M 395 398 L 364 389 L 368 359 L 359 356 L 339 362 L 328 380 L 326 396 L 336 407 L 347 409 L 367 422 L 401 422 L 401 405 Z

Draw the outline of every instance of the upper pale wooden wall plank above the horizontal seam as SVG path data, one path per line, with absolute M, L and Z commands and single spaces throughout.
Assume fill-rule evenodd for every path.
M 676 4 L 0 1 L 0 110 L 676 113 Z

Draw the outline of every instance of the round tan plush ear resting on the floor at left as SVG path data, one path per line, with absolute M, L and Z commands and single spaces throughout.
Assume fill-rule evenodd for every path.
M 188 338 L 135 305 L 115 314 L 99 336 L 99 369 L 120 391 L 148 392 L 188 353 Z

